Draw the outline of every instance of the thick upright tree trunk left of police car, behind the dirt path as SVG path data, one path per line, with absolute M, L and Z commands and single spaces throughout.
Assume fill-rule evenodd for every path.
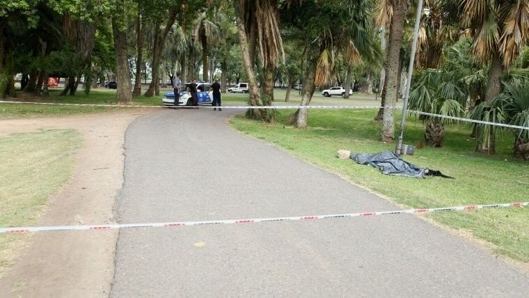
M 114 47 L 116 48 L 116 78 L 118 92 L 116 93 L 118 103 L 129 104 L 132 102 L 132 90 L 130 86 L 129 64 L 127 63 L 127 33 L 120 29 L 116 17 L 112 18 L 112 31 L 114 35 Z

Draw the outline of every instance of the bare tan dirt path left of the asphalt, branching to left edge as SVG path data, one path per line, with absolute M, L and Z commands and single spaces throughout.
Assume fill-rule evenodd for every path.
M 123 140 L 129 123 L 152 109 L 86 116 L 0 120 L 0 136 L 39 129 L 75 129 L 84 146 L 70 185 L 50 198 L 42 225 L 113 221 L 123 183 Z M 0 279 L 2 297 L 108 297 L 117 231 L 31 235 Z M 83 249 L 79 249 L 83 248 Z

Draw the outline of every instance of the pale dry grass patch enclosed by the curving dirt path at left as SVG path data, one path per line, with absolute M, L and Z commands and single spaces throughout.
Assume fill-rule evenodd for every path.
M 47 200 L 72 175 L 81 147 L 75 130 L 42 130 L 0 137 L 0 226 L 35 224 Z M 26 235 L 0 235 L 0 272 Z

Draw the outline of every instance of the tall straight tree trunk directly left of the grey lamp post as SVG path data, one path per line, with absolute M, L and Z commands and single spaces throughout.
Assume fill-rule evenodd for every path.
M 384 61 L 386 68 L 386 79 L 384 81 L 385 103 L 384 115 L 382 116 L 382 141 L 393 141 L 395 139 L 395 103 L 400 81 L 398 81 L 400 45 L 402 42 L 404 20 L 408 12 L 407 0 L 393 0 L 393 17 L 389 31 L 388 55 Z

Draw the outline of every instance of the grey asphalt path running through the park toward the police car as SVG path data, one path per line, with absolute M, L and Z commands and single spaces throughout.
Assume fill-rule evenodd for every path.
M 396 208 L 233 131 L 227 125 L 231 113 L 164 110 L 132 123 L 125 139 L 120 221 Z M 111 296 L 522 297 L 528 292 L 529 278 L 519 269 L 412 215 L 399 215 L 121 230 Z

